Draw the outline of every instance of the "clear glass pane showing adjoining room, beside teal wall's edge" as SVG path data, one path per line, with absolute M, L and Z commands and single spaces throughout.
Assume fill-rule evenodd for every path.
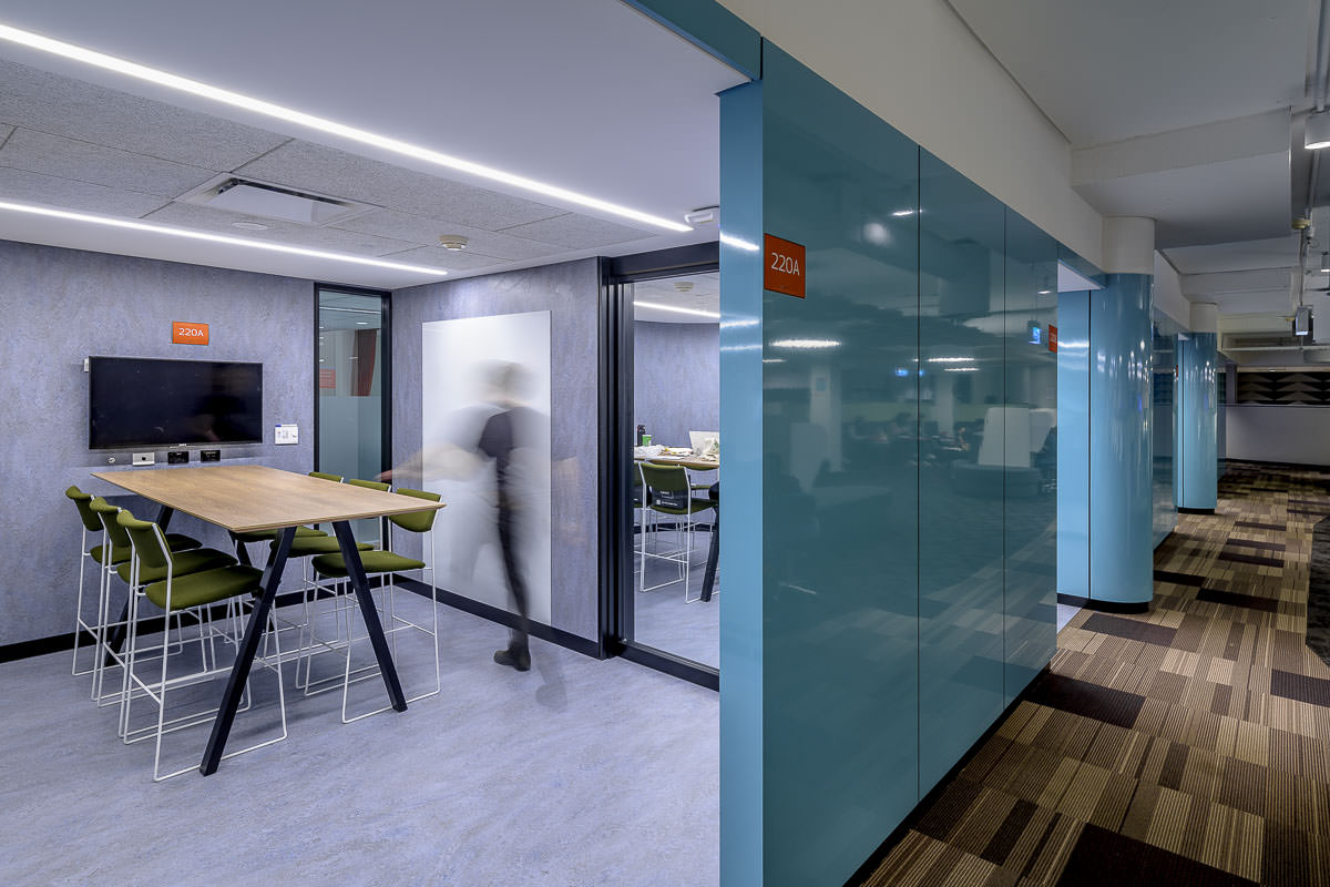
M 720 666 L 713 531 L 720 480 L 720 273 L 630 285 L 633 302 L 632 638 Z M 648 468 L 645 487 L 641 464 Z M 718 495 L 717 488 L 717 495 Z

